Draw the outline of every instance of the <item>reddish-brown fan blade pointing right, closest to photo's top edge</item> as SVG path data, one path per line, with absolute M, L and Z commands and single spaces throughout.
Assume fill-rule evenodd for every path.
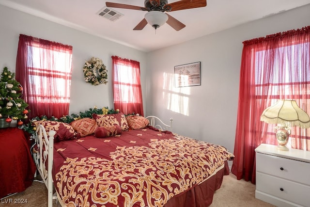
M 207 5 L 207 0 L 179 0 L 173 3 L 168 3 L 165 5 L 165 8 L 171 8 L 169 12 L 178 11 L 183 9 L 193 9 L 204 7 Z M 167 10 L 166 10 L 167 11 Z M 167 11 L 167 12 L 168 12 Z

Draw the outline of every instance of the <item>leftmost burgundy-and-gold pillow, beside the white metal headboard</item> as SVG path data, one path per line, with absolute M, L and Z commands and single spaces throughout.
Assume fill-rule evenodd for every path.
M 47 133 L 50 130 L 56 131 L 56 134 L 54 136 L 54 142 L 78 139 L 81 137 L 81 134 L 79 132 L 76 132 L 74 128 L 67 123 L 58 121 L 35 121 L 33 122 L 33 124 L 35 124 L 36 127 L 38 127 L 39 125 L 43 125 Z

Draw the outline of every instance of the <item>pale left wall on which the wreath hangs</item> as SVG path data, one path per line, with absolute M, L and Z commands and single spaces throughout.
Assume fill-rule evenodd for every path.
M 73 73 L 69 114 L 85 111 L 94 106 L 113 106 L 111 56 L 140 62 L 143 96 L 145 88 L 146 53 L 129 48 L 85 32 L 47 21 L 43 18 L 0 6 L 0 73 L 7 66 L 15 72 L 19 34 L 60 42 L 73 47 Z M 84 81 L 83 65 L 91 57 L 103 60 L 108 69 L 108 83 L 93 86 Z M 145 104 L 144 104 L 145 105 Z

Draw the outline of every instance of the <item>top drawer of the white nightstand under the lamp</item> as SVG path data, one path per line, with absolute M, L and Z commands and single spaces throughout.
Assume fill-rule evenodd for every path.
M 256 153 L 256 171 L 310 185 L 309 162 Z

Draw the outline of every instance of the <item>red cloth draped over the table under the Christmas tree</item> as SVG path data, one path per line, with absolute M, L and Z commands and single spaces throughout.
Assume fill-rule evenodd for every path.
M 0 128 L 0 198 L 31 186 L 36 166 L 22 129 Z

